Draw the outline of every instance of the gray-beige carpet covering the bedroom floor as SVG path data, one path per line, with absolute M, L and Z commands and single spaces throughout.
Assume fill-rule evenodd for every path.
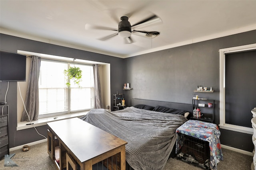
M 218 170 L 251 170 L 252 156 L 222 149 L 224 160 L 221 161 Z M 47 143 L 40 143 L 30 146 L 30 150 L 23 152 L 22 149 L 14 150 L 12 160 L 18 165 L 16 167 L 5 167 L 4 159 L 0 161 L 0 170 L 56 170 L 53 162 L 47 153 Z M 202 170 L 176 158 L 170 158 L 164 170 Z

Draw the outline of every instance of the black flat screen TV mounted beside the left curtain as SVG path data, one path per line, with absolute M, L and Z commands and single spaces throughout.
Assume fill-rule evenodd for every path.
M 26 81 L 26 55 L 0 50 L 0 81 Z

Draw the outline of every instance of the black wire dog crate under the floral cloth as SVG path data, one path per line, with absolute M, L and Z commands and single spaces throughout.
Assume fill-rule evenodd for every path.
M 178 135 L 184 135 L 178 133 Z M 184 143 L 177 154 L 180 159 L 203 169 L 210 169 L 210 147 L 209 142 L 184 135 Z

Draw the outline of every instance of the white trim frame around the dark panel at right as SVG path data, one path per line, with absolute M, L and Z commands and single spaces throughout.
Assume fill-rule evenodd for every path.
M 248 127 L 242 127 L 237 125 L 226 124 L 225 120 L 225 54 L 234 53 L 238 51 L 248 51 L 256 49 L 256 43 L 250 45 L 242 45 L 238 47 L 230 47 L 226 49 L 220 49 L 220 128 L 231 131 L 237 131 L 242 133 L 253 134 L 253 129 Z

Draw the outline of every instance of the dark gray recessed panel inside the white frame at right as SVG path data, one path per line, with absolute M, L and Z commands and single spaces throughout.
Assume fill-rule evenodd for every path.
M 256 107 L 256 50 L 225 55 L 225 121 L 252 127 L 251 110 Z

